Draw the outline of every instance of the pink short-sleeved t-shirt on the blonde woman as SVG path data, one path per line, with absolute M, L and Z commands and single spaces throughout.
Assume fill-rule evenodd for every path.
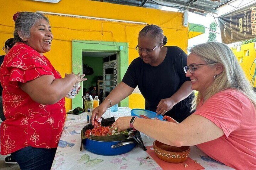
M 213 141 L 197 145 L 211 158 L 235 169 L 256 169 L 256 110 L 237 90 L 221 91 L 197 107 L 201 115 L 224 132 Z

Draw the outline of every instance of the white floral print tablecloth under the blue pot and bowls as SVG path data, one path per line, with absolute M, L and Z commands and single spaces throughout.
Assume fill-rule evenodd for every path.
M 131 109 L 119 107 L 117 112 L 107 112 L 104 118 L 115 116 L 130 116 Z M 53 161 L 52 170 L 161 170 L 162 168 L 140 147 L 136 146 L 128 153 L 117 156 L 101 156 L 91 153 L 83 148 L 80 152 L 81 129 L 87 124 L 86 113 L 80 115 L 68 114 L 59 145 Z M 142 134 L 145 146 L 151 146 L 154 139 Z M 205 169 L 232 169 L 207 157 L 197 147 L 191 147 L 190 158 L 200 163 Z M 171 169 L 171 167 L 170 167 Z

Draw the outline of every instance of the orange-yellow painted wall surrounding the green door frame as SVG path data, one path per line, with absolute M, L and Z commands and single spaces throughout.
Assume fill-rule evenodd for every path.
M 59 3 L 1 0 L 0 7 L 0 44 L 2 46 L 4 46 L 5 40 L 13 36 L 13 14 L 17 11 L 46 11 L 156 24 L 164 30 L 164 34 L 168 38 L 167 45 L 177 45 L 184 51 L 187 48 L 188 28 L 182 25 L 183 13 L 89 0 L 61 0 Z M 52 26 L 54 40 L 51 51 L 45 56 L 50 59 L 62 76 L 72 71 L 72 40 L 128 42 L 129 63 L 138 57 L 135 50 L 138 43 L 137 36 L 144 25 L 47 16 Z M 3 55 L 4 52 L 1 51 L 0 54 Z M 132 94 L 129 100 L 131 108 L 144 107 L 145 100 L 139 94 Z M 70 99 L 66 100 L 66 108 L 67 110 L 71 109 Z

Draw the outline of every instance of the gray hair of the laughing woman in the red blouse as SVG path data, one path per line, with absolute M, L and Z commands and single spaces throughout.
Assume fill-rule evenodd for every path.
M 50 23 L 48 18 L 41 13 L 21 12 L 15 21 L 15 29 L 13 33 L 14 39 L 16 39 L 17 42 L 22 42 L 20 36 L 22 38 L 29 38 L 31 27 L 34 26 L 35 23 L 40 19 L 45 19 L 48 23 Z M 18 31 L 20 32 L 20 36 Z

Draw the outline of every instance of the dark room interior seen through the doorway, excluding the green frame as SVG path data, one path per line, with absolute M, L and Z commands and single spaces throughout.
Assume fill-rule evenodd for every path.
M 83 95 L 88 93 L 93 98 L 98 96 L 101 104 L 113 88 L 118 85 L 117 56 L 119 53 L 83 51 L 82 55 L 83 73 L 88 79 L 83 84 Z

